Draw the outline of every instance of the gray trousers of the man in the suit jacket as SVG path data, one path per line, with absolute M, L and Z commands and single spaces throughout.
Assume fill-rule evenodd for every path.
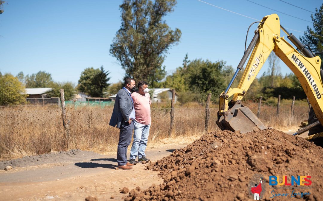
M 127 150 L 131 142 L 132 131 L 133 131 L 133 123 L 129 124 L 127 122 L 125 126 L 120 127 L 118 152 L 117 152 L 118 166 L 122 166 L 127 163 Z

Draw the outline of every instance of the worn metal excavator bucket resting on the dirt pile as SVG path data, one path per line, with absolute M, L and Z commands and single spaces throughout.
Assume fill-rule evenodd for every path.
M 218 115 L 216 124 L 221 130 L 240 131 L 247 133 L 267 129 L 248 107 L 237 101 L 224 115 Z

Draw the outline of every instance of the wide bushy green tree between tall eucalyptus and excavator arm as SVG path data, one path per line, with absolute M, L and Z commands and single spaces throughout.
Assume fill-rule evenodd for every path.
M 231 79 L 232 73 L 231 66 L 225 66 L 222 60 L 211 62 L 195 59 L 189 63 L 183 62 L 183 67 L 178 67 L 172 75 L 167 76 L 161 87 L 175 88 L 180 102 L 205 102 L 208 93 L 214 95 L 212 101 L 218 102 L 218 95 L 224 91 L 229 82 L 226 79 Z

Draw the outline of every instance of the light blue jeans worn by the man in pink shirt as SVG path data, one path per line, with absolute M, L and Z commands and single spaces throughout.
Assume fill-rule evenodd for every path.
M 133 142 L 130 150 L 130 159 L 140 159 L 145 155 L 145 150 L 147 147 L 148 136 L 149 136 L 149 129 L 150 124 L 145 125 L 138 123 L 136 120 L 133 121 L 134 125 L 134 134 L 133 134 Z

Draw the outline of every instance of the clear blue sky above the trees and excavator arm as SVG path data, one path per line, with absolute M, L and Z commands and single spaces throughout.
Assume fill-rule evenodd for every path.
M 284 27 L 298 31 L 312 27 L 310 12 L 279 0 L 252 1 L 310 22 L 247 0 L 204 1 L 259 20 L 265 15 L 277 13 Z M 312 12 L 322 4 L 317 0 L 284 1 Z M 85 68 L 103 65 L 110 72 L 111 83 L 123 78 L 124 70 L 109 53 L 110 44 L 121 24 L 121 0 L 6 2 L 5 12 L 0 15 L 2 73 L 16 75 L 23 71 L 26 75 L 45 70 L 51 73 L 55 81 L 77 84 Z M 181 41 L 169 50 L 163 63 L 168 74 L 182 65 L 186 53 L 191 60 L 224 60 L 236 69 L 243 56 L 248 26 L 255 22 L 197 0 L 178 0 L 175 11 L 168 14 L 165 20 L 172 29 L 182 31 Z M 256 25 L 249 32 L 250 40 L 255 28 Z M 297 38 L 303 35 L 301 32 L 288 31 Z M 281 73 L 291 72 L 282 61 L 279 65 Z M 266 69 L 265 64 L 259 75 Z

